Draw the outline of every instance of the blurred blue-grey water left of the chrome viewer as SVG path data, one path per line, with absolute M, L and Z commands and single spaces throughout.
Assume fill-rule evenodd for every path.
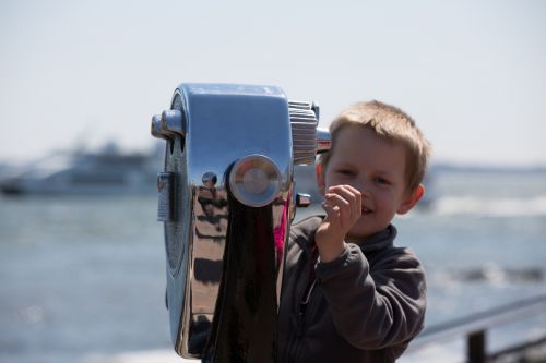
M 0 361 L 168 347 L 155 197 L 0 202 Z

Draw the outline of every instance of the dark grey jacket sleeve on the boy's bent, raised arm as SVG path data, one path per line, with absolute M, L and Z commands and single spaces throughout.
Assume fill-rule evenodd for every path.
M 360 349 L 406 343 L 423 329 L 426 282 L 417 257 L 393 249 L 370 273 L 356 244 L 347 244 L 335 261 L 316 268 L 337 332 Z

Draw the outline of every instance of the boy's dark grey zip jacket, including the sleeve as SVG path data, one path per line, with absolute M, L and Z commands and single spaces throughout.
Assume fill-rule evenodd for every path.
M 322 217 L 292 226 L 278 311 L 278 362 L 394 362 L 423 329 L 425 273 L 396 229 L 316 262 Z M 313 282 L 314 281 L 314 282 Z

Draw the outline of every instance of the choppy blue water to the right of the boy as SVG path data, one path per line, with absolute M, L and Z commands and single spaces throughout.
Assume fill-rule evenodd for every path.
M 546 176 L 443 174 L 429 213 L 397 218 L 397 242 L 415 250 L 428 277 L 427 325 L 546 293 Z M 546 312 L 492 329 L 488 350 L 546 335 Z M 401 362 L 462 362 L 462 339 Z

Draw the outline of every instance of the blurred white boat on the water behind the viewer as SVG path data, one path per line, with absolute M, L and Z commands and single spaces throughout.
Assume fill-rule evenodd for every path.
M 0 189 L 22 195 L 152 194 L 162 157 L 158 152 L 120 153 L 111 144 L 100 152 L 58 152 L 21 168 Z

